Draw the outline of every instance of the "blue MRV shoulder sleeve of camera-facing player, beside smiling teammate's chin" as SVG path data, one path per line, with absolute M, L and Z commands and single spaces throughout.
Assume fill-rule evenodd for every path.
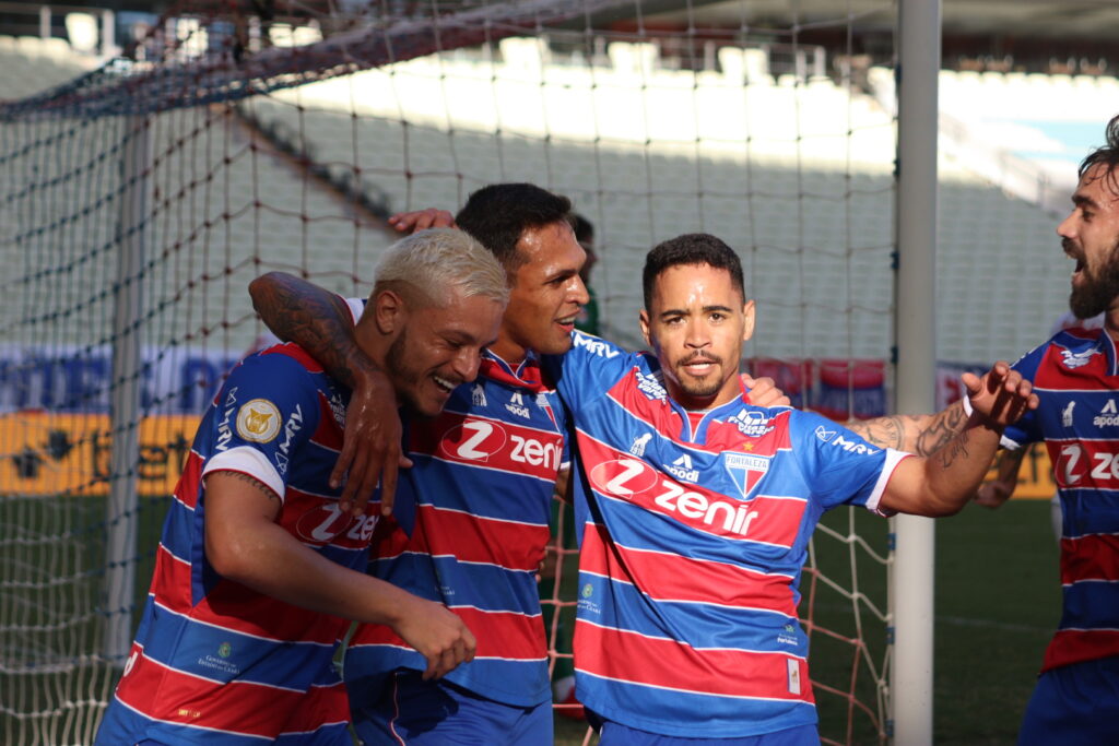
M 544 356 L 542 365 L 577 419 L 580 407 L 604 396 L 633 367 L 637 356 L 581 331 L 572 332 L 571 341 L 565 355 Z

